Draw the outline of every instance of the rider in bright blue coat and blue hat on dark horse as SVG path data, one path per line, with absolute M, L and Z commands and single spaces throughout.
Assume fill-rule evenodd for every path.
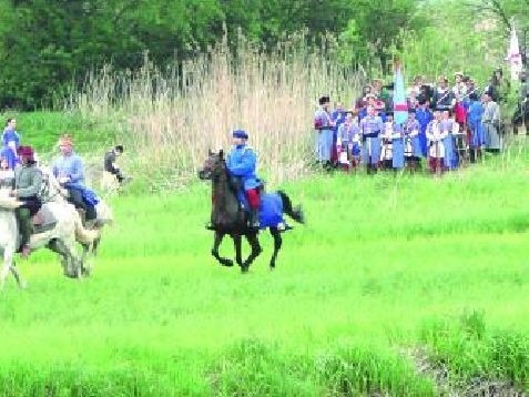
M 232 133 L 233 146 L 226 159 L 226 166 L 230 173 L 240 179 L 244 193 L 250 205 L 248 226 L 255 231 L 260 228 L 260 190 L 261 180 L 255 170 L 257 166 L 257 156 L 254 150 L 246 144 L 248 134 L 244 130 L 235 130 Z

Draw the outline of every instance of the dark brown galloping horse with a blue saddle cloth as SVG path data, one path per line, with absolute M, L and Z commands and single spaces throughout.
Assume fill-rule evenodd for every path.
M 262 252 L 257 237 L 258 231 L 248 227 L 246 211 L 241 207 L 237 198 L 240 194 L 237 183 L 226 167 L 222 150 L 218 153 L 210 151 L 203 169 L 199 172 L 199 177 L 212 181 L 212 224 L 215 230 L 212 255 L 223 266 L 233 266 L 232 259 L 218 254 L 222 240 L 227 234 L 235 245 L 235 262 L 243 273 L 247 272 L 252 262 Z M 260 212 L 261 227 L 267 227 L 274 237 L 274 253 L 269 262 L 269 267 L 273 269 L 283 244 L 279 230 L 281 226 L 284 226 L 283 213 L 298 223 L 304 223 L 304 216 L 299 207 L 295 210 L 292 207 L 291 198 L 281 191 L 262 193 Z M 243 261 L 241 253 L 242 236 L 246 237 L 252 247 L 252 252 L 245 261 Z

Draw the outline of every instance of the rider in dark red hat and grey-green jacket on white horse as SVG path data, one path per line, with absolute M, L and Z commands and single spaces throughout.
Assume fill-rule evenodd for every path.
M 31 233 L 33 233 L 31 217 L 42 206 L 39 198 L 42 187 L 42 173 L 35 166 L 31 146 L 20 146 L 19 156 L 21 165 L 14 169 L 14 189 L 11 191 L 11 196 L 22 202 L 22 205 L 16 210 L 21 237 L 19 252 L 23 257 L 28 257 L 30 254 L 28 244 Z

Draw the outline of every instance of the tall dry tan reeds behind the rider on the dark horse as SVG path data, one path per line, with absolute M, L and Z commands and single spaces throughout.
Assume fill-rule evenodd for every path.
M 311 50 L 294 37 L 274 51 L 238 40 L 160 70 L 145 60 L 136 72 L 110 67 L 90 74 L 67 106 L 114 124 L 133 149 L 130 166 L 169 185 L 194 177 L 207 149 L 227 150 L 230 132 L 244 129 L 274 183 L 303 174 L 313 161 L 317 98 L 349 106 L 362 75 L 340 67 L 335 43 Z

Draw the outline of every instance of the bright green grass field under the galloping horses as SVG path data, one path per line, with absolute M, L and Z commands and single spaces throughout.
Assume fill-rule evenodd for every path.
M 114 196 L 92 277 L 64 278 L 45 252 L 19 261 L 28 289 L 10 279 L 0 296 L 0 390 L 435 396 L 479 380 L 527 393 L 523 164 L 520 146 L 442 179 L 285 184 L 307 224 L 284 235 L 274 272 L 263 234 L 246 275 L 210 256 L 208 184 Z

